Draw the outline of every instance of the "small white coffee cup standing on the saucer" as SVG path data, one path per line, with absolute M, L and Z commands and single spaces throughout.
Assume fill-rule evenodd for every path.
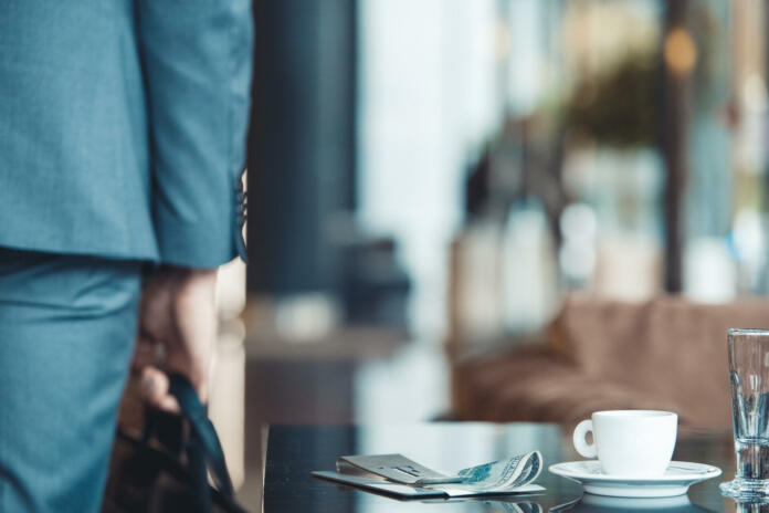
M 573 433 L 575 449 L 596 458 L 605 474 L 652 478 L 662 475 L 673 458 L 678 416 L 670 411 L 597 411 Z M 593 433 L 593 443 L 584 437 Z

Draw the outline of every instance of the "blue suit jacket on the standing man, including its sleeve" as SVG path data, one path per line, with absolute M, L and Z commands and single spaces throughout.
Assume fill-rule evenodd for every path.
M 0 0 L 0 245 L 242 253 L 251 54 L 250 0 Z

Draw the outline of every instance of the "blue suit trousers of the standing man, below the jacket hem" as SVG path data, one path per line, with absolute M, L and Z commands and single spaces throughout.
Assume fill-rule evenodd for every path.
M 0 511 L 97 512 L 141 263 L 0 249 Z

